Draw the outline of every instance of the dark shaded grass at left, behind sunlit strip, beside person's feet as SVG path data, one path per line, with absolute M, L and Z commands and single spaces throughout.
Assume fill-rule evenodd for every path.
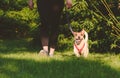
M 27 39 L 0 40 L 0 53 L 34 52 L 40 47 L 32 45 Z

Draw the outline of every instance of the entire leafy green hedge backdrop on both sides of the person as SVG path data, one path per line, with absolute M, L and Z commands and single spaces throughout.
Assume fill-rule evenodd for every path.
M 28 0 L 0 0 L 0 38 L 32 37 L 35 42 L 39 42 L 40 19 L 36 3 L 35 8 L 30 10 L 27 2 Z M 73 0 L 73 4 L 75 5 L 71 9 L 63 11 L 57 47 L 72 48 L 73 37 L 66 22 L 68 12 L 73 30 L 80 31 L 84 28 L 88 32 L 91 51 L 118 52 L 120 48 L 118 1 Z

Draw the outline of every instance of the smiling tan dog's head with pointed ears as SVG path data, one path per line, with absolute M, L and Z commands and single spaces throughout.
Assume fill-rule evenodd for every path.
M 80 44 L 80 42 L 84 39 L 85 30 L 82 29 L 80 32 L 73 32 L 74 40 L 77 44 Z

